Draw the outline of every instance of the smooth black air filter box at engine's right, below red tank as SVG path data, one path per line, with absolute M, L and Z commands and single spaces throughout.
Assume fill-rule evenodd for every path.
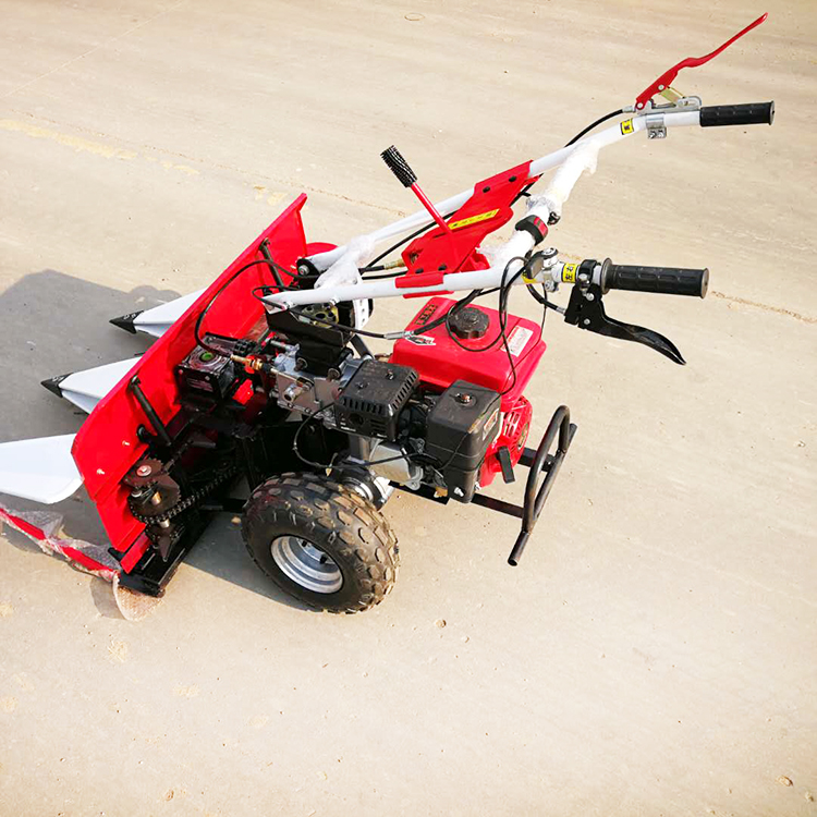
M 428 413 L 426 453 L 442 463 L 449 497 L 471 502 L 485 453 L 499 431 L 499 392 L 456 380 Z

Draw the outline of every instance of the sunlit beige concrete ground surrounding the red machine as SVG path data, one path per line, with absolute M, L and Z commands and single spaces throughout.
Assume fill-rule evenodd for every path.
M 388 145 L 441 198 L 757 13 L 0 0 L 0 440 L 75 430 L 38 381 L 144 350 L 108 318 L 204 285 L 298 192 L 344 241 L 414 209 Z M 562 402 L 580 429 L 519 569 L 513 520 L 401 496 L 394 594 L 310 614 L 225 520 L 134 624 L 0 536 L 0 814 L 817 814 L 816 35 L 778 3 L 676 82 L 773 98 L 773 127 L 630 139 L 576 187 L 564 253 L 711 292 L 608 297 L 685 368 L 550 316 L 535 431 Z M 87 498 L 60 510 L 101 539 Z

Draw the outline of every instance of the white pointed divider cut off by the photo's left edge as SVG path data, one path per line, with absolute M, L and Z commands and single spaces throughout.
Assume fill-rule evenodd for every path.
M 73 434 L 0 443 L 0 493 L 52 504 L 83 484 L 71 456 Z

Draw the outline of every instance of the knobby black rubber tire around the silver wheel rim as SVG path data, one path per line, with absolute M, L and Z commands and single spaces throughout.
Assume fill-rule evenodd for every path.
M 288 534 L 309 539 L 338 563 L 343 586 L 337 593 L 315 593 L 281 571 L 270 542 Z M 261 483 L 244 505 L 242 536 L 276 586 L 315 610 L 363 612 L 379 605 L 397 580 L 398 539 L 383 514 L 350 487 L 316 474 L 288 473 Z

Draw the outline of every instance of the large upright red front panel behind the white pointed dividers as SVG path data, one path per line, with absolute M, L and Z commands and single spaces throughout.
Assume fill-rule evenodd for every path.
M 302 194 L 293 202 L 214 282 L 187 312 L 157 340 L 142 356 L 136 367 L 120 381 L 90 413 L 76 435 L 72 453 L 83 476 L 85 487 L 97 505 L 111 545 L 124 551 L 142 533 L 144 525 L 127 509 L 129 490 L 122 477 L 145 452 L 146 446 L 136 437 L 147 417 L 127 388 L 138 375 L 142 389 L 167 425 L 179 412 L 179 394 L 174 368 L 195 346 L 194 328 L 199 313 L 235 271 L 245 264 L 261 258 L 258 245 L 269 239 L 273 259 L 292 268 L 307 252 L 320 252 L 331 245 L 312 245 L 307 251 L 301 208 L 306 202 Z M 203 332 L 211 331 L 241 337 L 263 317 L 261 304 L 252 290 L 270 284 L 272 278 L 266 265 L 246 270 L 219 295 L 207 313 Z M 284 280 L 286 283 L 286 280 Z

